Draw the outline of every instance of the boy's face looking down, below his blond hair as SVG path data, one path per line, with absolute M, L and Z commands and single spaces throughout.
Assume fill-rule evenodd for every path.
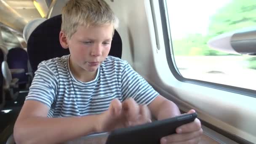
M 109 54 L 113 29 L 111 24 L 90 27 L 78 26 L 72 37 L 64 40 L 67 41 L 70 51 L 69 62 L 76 71 L 96 72 Z

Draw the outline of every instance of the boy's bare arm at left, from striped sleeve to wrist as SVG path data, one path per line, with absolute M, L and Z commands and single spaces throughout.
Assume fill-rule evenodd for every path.
M 25 101 L 14 125 L 17 144 L 56 144 L 96 132 L 98 115 L 48 118 L 49 108 L 38 101 Z

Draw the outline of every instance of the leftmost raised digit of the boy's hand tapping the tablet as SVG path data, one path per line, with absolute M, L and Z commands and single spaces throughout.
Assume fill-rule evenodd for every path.
M 118 99 L 113 99 L 109 105 L 109 114 L 111 117 L 117 117 L 122 112 L 122 104 Z

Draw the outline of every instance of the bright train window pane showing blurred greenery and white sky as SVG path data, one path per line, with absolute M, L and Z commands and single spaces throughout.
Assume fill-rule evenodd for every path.
M 256 56 L 216 50 L 214 37 L 256 26 L 256 0 L 166 0 L 171 48 L 188 79 L 256 90 Z

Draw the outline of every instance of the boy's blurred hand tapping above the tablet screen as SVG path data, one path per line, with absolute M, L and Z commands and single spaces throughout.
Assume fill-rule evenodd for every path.
M 151 122 L 151 114 L 148 107 L 139 105 L 132 98 L 123 103 L 113 99 L 109 109 L 99 115 L 99 127 L 97 131 L 112 131 L 116 128 L 125 128 Z

